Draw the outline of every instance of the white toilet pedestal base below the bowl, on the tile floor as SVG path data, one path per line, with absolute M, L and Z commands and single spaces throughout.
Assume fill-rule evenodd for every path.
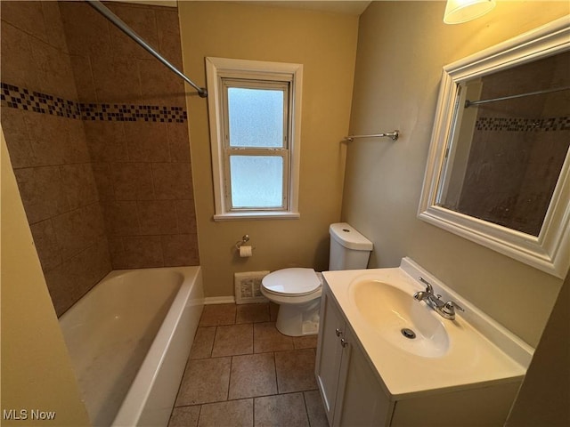
M 277 330 L 289 336 L 316 335 L 319 333 L 321 298 L 307 304 L 280 304 Z

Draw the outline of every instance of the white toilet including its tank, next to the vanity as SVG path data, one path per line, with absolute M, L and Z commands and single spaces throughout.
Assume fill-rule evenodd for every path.
M 346 222 L 330 224 L 329 270 L 360 270 L 368 265 L 372 242 Z M 322 274 L 313 269 L 276 270 L 263 278 L 261 293 L 280 305 L 276 326 L 289 336 L 319 332 Z

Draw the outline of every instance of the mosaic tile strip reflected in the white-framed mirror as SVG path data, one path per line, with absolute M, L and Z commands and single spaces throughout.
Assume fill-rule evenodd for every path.
M 479 117 L 477 131 L 552 132 L 570 131 L 570 117 Z

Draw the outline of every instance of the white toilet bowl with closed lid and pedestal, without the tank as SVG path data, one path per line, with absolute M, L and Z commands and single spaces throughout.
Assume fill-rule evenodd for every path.
M 289 336 L 314 335 L 319 331 L 322 274 L 313 269 L 283 269 L 263 278 L 261 293 L 280 305 L 276 327 Z

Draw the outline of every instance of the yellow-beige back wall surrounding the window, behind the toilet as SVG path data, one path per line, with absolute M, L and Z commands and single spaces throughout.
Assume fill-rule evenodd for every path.
M 232 295 L 236 271 L 326 269 L 328 226 L 340 219 L 357 17 L 221 2 L 181 2 L 179 12 L 184 71 L 198 85 L 207 56 L 304 65 L 300 220 L 213 222 L 208 101 L 193 90 L 187 98 L 207 296 Z M 240 259 L 233 246 L 246 233 L 254 255 Z

